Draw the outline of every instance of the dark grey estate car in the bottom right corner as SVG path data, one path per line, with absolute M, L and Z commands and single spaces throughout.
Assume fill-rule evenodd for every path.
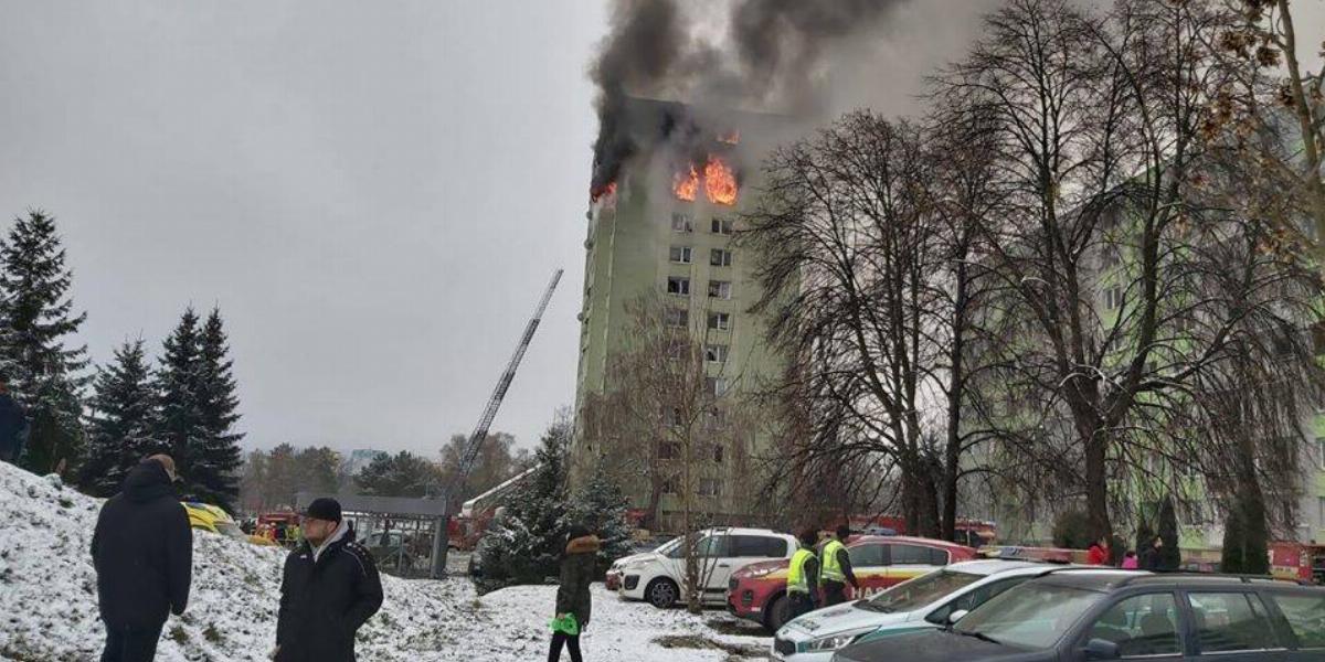
M 1063 569 L 953 616 L 833 661 L 1325 661 L 1325 589 L 1269 579 Z

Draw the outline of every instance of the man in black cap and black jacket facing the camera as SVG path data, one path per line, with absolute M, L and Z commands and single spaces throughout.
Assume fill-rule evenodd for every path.
M 348 535 L 341 503 L 314 499 L 303 540 L 285 559 L 277 662 L 354 662 L 354 636 L 382 608 L 372 555 Z

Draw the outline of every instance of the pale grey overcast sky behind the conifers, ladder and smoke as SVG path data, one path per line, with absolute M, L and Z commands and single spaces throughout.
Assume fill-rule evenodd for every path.
M 922 0 L 841 103 L 905 110 L 974 7 Z M 574 400 L 604 8 L 0 0 L 0 214 L 60 218 L 98 361 L 219 303 L 253 448 L 433 453 L 563 266 L 496 424 L 530 444 Z

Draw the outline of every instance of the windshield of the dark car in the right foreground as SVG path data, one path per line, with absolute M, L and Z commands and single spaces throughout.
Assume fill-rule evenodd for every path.
M 1104 593 L 1030 581 L 977 606 L 954 628 L 999 643 L 1048 649 Z

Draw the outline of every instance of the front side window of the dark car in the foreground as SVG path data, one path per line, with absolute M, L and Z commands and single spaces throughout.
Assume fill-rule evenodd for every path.
M 1118 657 L 1179 655 L 1178 609 L 1171 593 L 1129 597 L 1101 616 L 1086 639 L 1118 645 Z

